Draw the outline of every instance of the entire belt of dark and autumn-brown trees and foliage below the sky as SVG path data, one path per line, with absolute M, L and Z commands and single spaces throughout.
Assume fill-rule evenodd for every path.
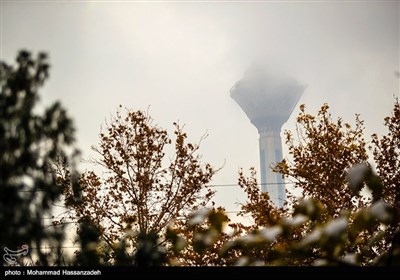
M 19 264 L 65 264 L 69 218 L 79 224 L 76 265 L 400 265 L 398 99 L 384 120 L 388 133 L 372 135 L 376 172 L 366 163 L 358 115 L 352 128 L 334 121 L 327 104 L 317 116 L 300 106 L 297 136 L 285 132 L 291 160 L 274 170 L 294 181 L 302 198 L 276 208 L 255 170 L 248 177 L 240 170 L 247 201 L 239 216 L 253 220 L 245 226 L 214 208 L 207 184 L 217 170 L 201 162 L 199 144 L 187 142 L 176 123 L 172 139 L 143 111 L 118 111 L 93 147 L 98 169 L 79 174 L 66 111 L 58 102 L 43 113 L 37 108 L 48 68 L 45 54 L 33 59 L 26 51 L 16 68 L 0 68 L 0 240 L 4 249 L 28 246 Z M 69 212 L 44 228 L 62 198 Z M 45 246 L 50 250 L 40 250 Z

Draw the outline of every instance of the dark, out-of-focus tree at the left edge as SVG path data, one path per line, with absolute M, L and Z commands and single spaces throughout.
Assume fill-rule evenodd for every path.
M 20 51 L 16 61 L 0 66 L 0 242 L 2 251 L 27 249 L 20 252 L 25 258 L 11 252 L 3 263 L 60 264 L 63 226 L 43 224 L 62 196 L 53 163 L 77 155 L 75 129 L 59 102 L 38 113 L 39 89 L 49 75 L 47 55 L 33 58 Z

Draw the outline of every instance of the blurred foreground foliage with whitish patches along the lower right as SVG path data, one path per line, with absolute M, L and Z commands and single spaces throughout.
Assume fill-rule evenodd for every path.
M 369 188 L 383 188 L 380 180 L 372 177 L 376 177 L 373 172 L 365 173 L 359 183 L 367 184 Z M 300 200 L 290 217 L 279 218 L 275 225 L 252 229 L 245 235 L 230 239 L 220 246 L 217 256 L 225 258 L 235 251 L 234 265 L 239 266 L 400 265 L 399 232 L 396 232 L 397 242 L 393 243 L 390 250 L 380 255 L 374 252 L 388 226 L 397 221 L 393 206 L 378 197 L 374 197 L 373 201 L 371 205 L 353 213 L 343 209 L 337 217 L 323 221 L 321 218 L 328 211 L 326 207 L 313 198 Z M 201 234 L 197 240 L 201 247 L 195 249 L 198 252 L 212 247 L 214 243 L 211 241 L 218 239 L 217 233 L 222 233 L 226 214 L 221 211 L 217 222 L 207 223 L 212 215 L 215 212 L 199 211 L 188 222 L 207 225 L 205 230 L 200 228 L 200 231 L 195 232 L 195 235 Z M 299 228 L 303 228 L 304 236 L 293 239 Z M 366 232 L 369 234 L 365 235 Z M 182 243 L 177 241 L 178 237 L 175 236 L 175 242 L 172 242 L 175 247 Z M 367 242 L 365 239 L 368 239 Z

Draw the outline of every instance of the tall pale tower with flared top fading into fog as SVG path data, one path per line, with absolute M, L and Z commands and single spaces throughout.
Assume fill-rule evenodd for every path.
M 282 161 L 281 128 L 305 89 L 292 78 L 252 65 L 231 89 L 231 97 L 246 113 L 260 135 L 261 191 L 283 207 L 286 200 L 282 175 L 271 166 Z

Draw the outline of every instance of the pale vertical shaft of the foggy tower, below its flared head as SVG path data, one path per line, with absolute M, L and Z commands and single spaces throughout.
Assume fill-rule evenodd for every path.
M 268 192 L 270 200 L 278 207 L 283 207 L 286 190 L 282 175 L 273 172 L 272 167 L 282 161 L 282 141 L 280 131 L 268 130 L 260 132 L 260 173 L 261 191 Z

